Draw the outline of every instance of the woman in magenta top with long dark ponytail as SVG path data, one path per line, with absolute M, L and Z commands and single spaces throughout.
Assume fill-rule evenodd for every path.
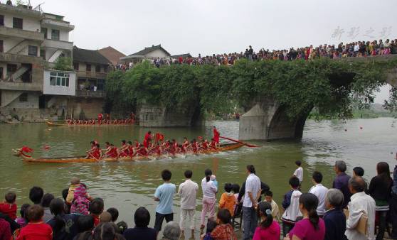
M 285 240 L 322 240 L 325 236 L 324 220 L 317 215 L 319 200 L 312 193 L 304 193 L 299 199 L 303 219 L 284 238 Z

